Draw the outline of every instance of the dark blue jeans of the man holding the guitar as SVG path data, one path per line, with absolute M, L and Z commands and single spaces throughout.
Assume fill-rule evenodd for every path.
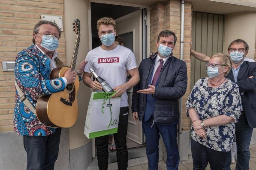
M 61 128 L 48 136 L 23 136 L 27 170 L 54 170 L 59 153 Z

